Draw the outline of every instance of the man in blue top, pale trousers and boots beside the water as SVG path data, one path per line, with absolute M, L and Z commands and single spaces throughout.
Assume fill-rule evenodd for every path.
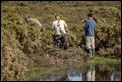
M 90 57 L 92 58 L 95 55 L 95 28 L 96 22 L 93 20 L 92 13 L 88 13 L 88 19 L 82 20 L 82 22 L 86 22 L 84 30 L 85 30 L 85 38 L 86 38 L 86 47 Z

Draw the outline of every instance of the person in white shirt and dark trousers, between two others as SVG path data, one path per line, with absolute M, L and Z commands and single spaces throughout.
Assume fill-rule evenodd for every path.
M 66 28 L 67 24 L 64 20 L 60 20 L 60 16 L 55 16 L 55 21 L 52 23 L 52 29 L 55 30 L 54 34 L 54 42 L 57 46 L 60 48 L 63 48 L 64 50 L 67 49 L 66 45 Z M 61 44 L 61 45 L 60 45 Z

